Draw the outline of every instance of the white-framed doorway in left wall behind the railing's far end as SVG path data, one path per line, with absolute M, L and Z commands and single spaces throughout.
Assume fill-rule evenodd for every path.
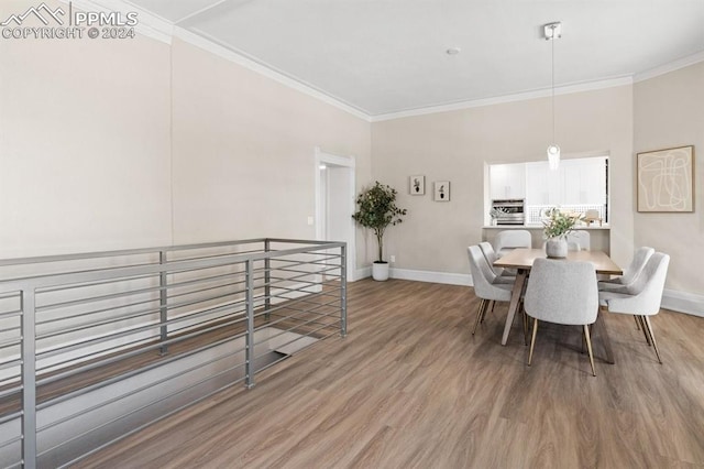
M 354 156 L 316 148 L 316 238 L 348 243 L 348 280 L 355 280 Z

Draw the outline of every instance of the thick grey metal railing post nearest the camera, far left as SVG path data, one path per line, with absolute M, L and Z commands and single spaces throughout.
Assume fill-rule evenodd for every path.
M 36 467 L 36 292 L 22 291 L 22 461 Z

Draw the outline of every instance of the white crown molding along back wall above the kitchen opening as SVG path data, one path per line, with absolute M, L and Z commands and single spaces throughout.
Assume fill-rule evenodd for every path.
M 583 92 L 583 91 L 592 91 L 596 89 L 614 88 L 617 86 L 627 86 L 627 85 L 632 85 L 632 83 L 634 83 L 632 76 L 627 75 L 623 77 L 595 80 L 595 81 L 585 81 L 585 83 L 579 83 L 579 84 L 570 84 L 570 85 L 556 87 L 554 94 L 570 95 L 573 92 Z M 433 114 L 438 112 L 458 111 L 462 109 L 482 108 L 485 106 L 504 105 L 507 102 L 526 101 L 529 99 L 549 98 L 551 96 L 552 96 L 552 89 L 544 88 L 544 89 L 538 89 L 534 91 L 517 92 L 514 95 L 496 96 L 496 97 L 486 98 L 486 99 L 459 101 L 459 102 L 451 102 L 448 105 L 428 106 L 425 108 L 409 109 L 406 111 L 376 114 L 376 116 L 372 116 L 372 122 L 382 122 L 386 120 L 402 119 L 407 117 Z

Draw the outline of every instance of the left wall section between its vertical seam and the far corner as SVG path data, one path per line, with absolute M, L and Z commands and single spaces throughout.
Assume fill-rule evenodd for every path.
M 176 243 L 315 239 L 316 146 L 369 181 L 366 121 L 179 40 L 173 64 Z

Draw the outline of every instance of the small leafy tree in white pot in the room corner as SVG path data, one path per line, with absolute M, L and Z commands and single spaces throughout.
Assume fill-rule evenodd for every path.
M 396 189 L 377 181 L 372 187 L 363 190 L 356 197 L 359 210 L 352 218 L 363 226 L 371 228 L 378 244 L 378 259 L 372 264 L 374 280 L 388 279 L 388 263 L 384 261 L 384 232 L 389 225 L 398 225 L 406 215 L 405 208 L 396 207 Z

